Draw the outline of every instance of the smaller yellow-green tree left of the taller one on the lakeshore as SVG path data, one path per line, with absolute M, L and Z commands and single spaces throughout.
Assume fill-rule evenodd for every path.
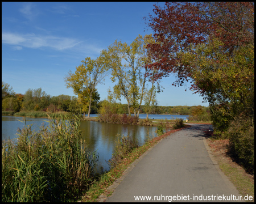
M 104 58 L 101 56 L 96 59 L 86 57 L 81 62 L 82 65 L 76 67 L 75 74 L 69 71 L 65 77 L 65 84 L 67 88 L 73 88 L 74 93 L 79 96 L 82 103 L 85 103 L 85 93 L 88 94 L 88 117 L 90 117 L 93 93 L 96 92 L 96 86 L 108 75 L 108 68 L 106 68 Z

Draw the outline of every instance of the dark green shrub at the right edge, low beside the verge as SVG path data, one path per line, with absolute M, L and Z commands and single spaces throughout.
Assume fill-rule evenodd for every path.
M 229 153 L 254 174 L 254 122 L 250 117 L 237 117 L 229 129 Z

